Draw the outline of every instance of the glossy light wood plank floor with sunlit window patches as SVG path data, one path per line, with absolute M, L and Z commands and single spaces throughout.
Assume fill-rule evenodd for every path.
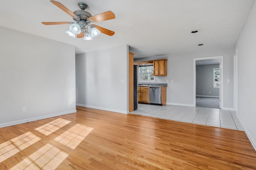
M 0 128 L 0 169 L 244 170 L 256 152 L 243 131 L 86 107 Z

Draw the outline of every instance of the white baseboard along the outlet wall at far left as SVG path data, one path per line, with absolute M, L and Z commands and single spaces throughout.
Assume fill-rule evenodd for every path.
M 65 111 L 65 112 L 61 112 L 61 113 L 54 113 L 54 114 L 50 114 L 50 115 L 38 116 L 38 117 L 29 118 L 29 119 L 22 119 L 22 120 L 18 120 L 18 121 L 11 121 L 11 122 L 6 122 L 6 123 L 1 123 L 0 128 L 1 127 L 18 125 L 18 124 L 21 124 L 21 123 L 27 123 L 27 122 L 31 122 L 31 121 L 37 121 L 37 120 L 41 120 L 41 119 L 47 119 L 47 118 L 50 118 L 50 117 L 66 115 L 66 114 L 70 114 L 70 113 L 76 113 L 76 110 L 70 110 L 70 111 Z

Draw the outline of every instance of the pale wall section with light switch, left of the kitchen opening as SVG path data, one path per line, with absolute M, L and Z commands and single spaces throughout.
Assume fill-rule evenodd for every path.
M 128 50 L 122 45 L 76 55 L 78 106 L 128 113 Z

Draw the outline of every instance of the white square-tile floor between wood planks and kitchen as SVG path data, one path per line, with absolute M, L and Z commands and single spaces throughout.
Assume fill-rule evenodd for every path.
M 139 104 L 132 114 L 244 131 L 236 111 L 206 107 Z

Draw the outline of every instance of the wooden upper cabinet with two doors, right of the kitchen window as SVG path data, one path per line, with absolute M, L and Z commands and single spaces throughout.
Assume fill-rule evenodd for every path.
M 154 65 L 154 76 L 167 76 L 167 60 L 155 60 Z

